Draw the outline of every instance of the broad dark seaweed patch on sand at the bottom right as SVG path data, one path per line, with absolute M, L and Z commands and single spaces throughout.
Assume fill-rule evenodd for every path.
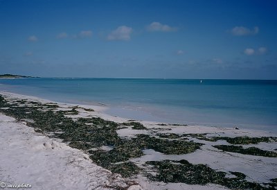
M 173 182 L 186 184 L 220 184 L 230 189 L 272 189 L 263 187 L 256 182 L 244 180 L 243 173 L 235 172 L 235 178 L 226 178 L 226 173 L 215 171 L 204 164 L 190 164 L 185 159 L 180 161 L 163 160 L 148 161 L 145 164 L 151 165 L 157 171 L 157 175 L 148 173 L 148 178 L 157 182 Z

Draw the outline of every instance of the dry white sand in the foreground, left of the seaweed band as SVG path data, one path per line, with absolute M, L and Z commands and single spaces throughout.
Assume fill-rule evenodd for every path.
M 6 186 L 24 183 L 32 189 L 140 188 L 93 164 L 82 150 L 39 134 L 24 122 L 1 113 L 0 128 L 0 176 Z

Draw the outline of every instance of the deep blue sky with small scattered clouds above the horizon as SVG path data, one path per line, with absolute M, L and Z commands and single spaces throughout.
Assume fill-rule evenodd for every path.
M 277 79 L 277 0 L 0 0 L 0 74 Z

